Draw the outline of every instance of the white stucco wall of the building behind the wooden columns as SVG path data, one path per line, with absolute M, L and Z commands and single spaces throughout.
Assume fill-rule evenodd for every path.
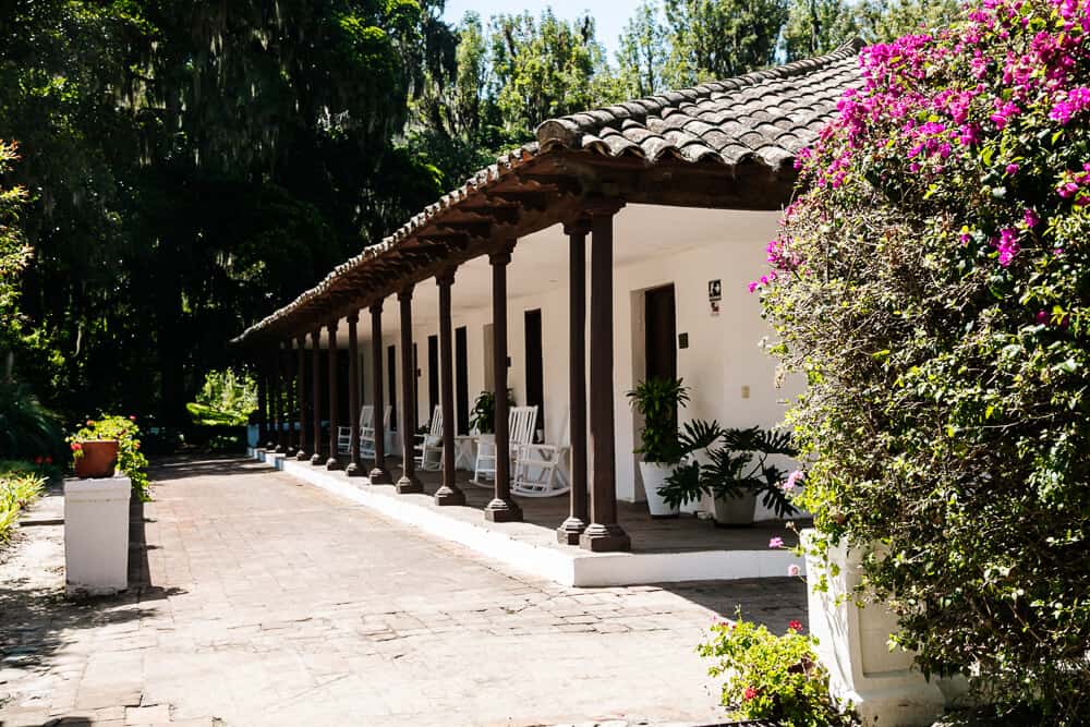
M 642 500 L 637 457 L 638 432 L 625 392 L 643 377 L 642 291 L 673 283 L 677 331 L 689 348 L 678 351 L 678 375 L 692 388 L 682 420 L 715 419 L 724 426 L 778 424 L 784 402 L 799 391 L 797 381 L 776 387 L 775 362 L 760 347 L 771 334 L 760 316 L 756 295 L 747 283 L 764 269 L 764 246 L 776 231 L 777 215 L 686 210 L 670 207 L 626 208 L 616 223 L 614 278 L 614 398 L 617 432 L 617 494 Z M 630 216 L 625 219 L 625 216 Z M 693 219 L 697 218 L 694 222 Z M 590 249 L 590 240 L 588 241 Z M 472 267 L 471 267 L 472 266 Z M 559 228 L 520 241 L 509 268 L 509 386 L 525 401 L 524 312 L 542 311 L 546 439 L 567 444 L 568 420 L 568 259 Z M 720 313 L 711 313 L 710 280 L 722 280 Z M 419 350 L 417 416 L 429 416 L 427 337 L 438 332 L 434 282 L 417 286 L 413 300 L 413 338 Z M 523 291 L 530 290 L 529 294 Z M 470 407 L 484 380 L 484 329 L 492 322 L 487 263 L 463 266 L 452 289 L 453 326 L 467 327 Z M 361 371 L 364 401 L 371 400 L 370 318 L 361 316 Z M 398 303 L 384 306 L 384 349 L 399 343 Z M 588 350 L 601 346 L 588 341 Z M 384 351 L 384 366 L 386 353 Z M 400 351 L 398 351 L 400 362 Z M 400 371 L 397 372 L 400 376 Z M 384 380 L 388 374 L 384 371 Z M 748 389 L 748 396 L 744 393 Z M 398 398 L 400 400 L 400 378 Z M 386 403 L 389 403 L 387 391 Z M 759 518 L 768 517 L 759 506 Z

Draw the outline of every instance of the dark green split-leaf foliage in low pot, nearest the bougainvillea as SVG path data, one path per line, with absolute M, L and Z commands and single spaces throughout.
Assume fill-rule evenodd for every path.
M 680 449 L 688 453 L 703 449 L 707 463 L 687 458 L 666 478 L 658 494 L 671 507 L 697 500 L 704 494 L 727 498 L 753 493 L 779 518 L 797 511 L 782 487 L 787 473 L 768 462 L 775 455 L 798 453 L 787 432 L 768 432 L 759 426 L 723 429 L 715 422 L 695 420 L 686 423 L 679 441 Z M 714 446 L 716 443 L 719 446 Z

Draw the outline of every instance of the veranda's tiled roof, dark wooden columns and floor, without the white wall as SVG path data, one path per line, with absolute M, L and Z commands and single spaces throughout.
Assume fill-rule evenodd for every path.
M 360 477 L 365 486 L 389 485 L 401 496 L 426 495 L 437 509 L 472 513 L 465 517 L 481 518 L 483 511 L 493 523 L 548 528 L 557 544 L 591 553 L 766 548 L 768 530 L 780 534 L 782 524 L 717 531 L 692 518 L 652 521 L 644 509 L 618 501 L 618 460 L 623 463 L 628 455 L 618 452 L 616 432 L 625 403 L 618 401 L 615 377 L 615 328 L 623 325 L 615 317 L 615 260 L 627 241 L 615 240 L 615 221 L 627 206 L 652 205 L 773 217 L 791 195 L 795 155 L 816 138 L 844 89 L 858 82 L 856 53 L 852 45 L 820 59 L 545 122 L 535 143 L 505 155 L 237 339 L 264 373 L 262 441 L 296 463 L 343 470 L 339 476 L 346 481 Z M 467 296 L 480 296 L 482 288 L 491 293 L 491 361 L 481 363 L 488 369 L 488 388 L 506 391 L 508 271 L 523 243 L 550 229 L 562 229 L 567 242 L 568 496 L 532 501 L 512 496 L 502 396 L 496 397 L 491 492 L 468 486 L 456 469 L 455 426 L 443 427 L 440 470 L 417 472 L 414 438 L 403 436 L 416 432 L 422 420 L 414 296 L 434 282 L 438 405 L 444 422 L 456 422 L 452 311 L 461 294 L 456 280 L 471 268 L 480 274 L 487 260 L 489 279 L 467 289 Z M 384 355 L 395 313 L 397 360 Z M 359 368 L 361 325 L 370 329 L 363 331 L 368 377 Z M 328 354 L 341 348 L 348 351 L 347 371 Z M 399 387 L 384 367 L 387 374 L 398 368 Z M 338 379 L 346 375 L 342 386 Z M 370 386 L 361 386 L 365 378 Z M 388 441 L 383 417 L 376 416 L 375 458 L 361 460 L 361 404 L 382 412 L 395 396 L 402 436 Z M 348 421 L 338 421 L 346 407 Z M 339 424 L 351 429 L 347 458 L 337 451 Z M 399 451 L 387 451 L 390 444 Z

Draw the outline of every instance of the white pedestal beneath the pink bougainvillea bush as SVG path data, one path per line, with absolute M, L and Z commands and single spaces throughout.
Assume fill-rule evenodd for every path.
M 803 544 L 809 546 L 813 535 L 812 530 L 803 531 Z M 942 716 L 945 700 L 937 680 L 929 682 L 913 668 L 911 654 L 889 651 L 889 634 L 897 631 L 894 614 L 879 604 L 858 608 L 850 597 L 838 603 L 859 584 L 861 553 L 848 553 L 841 543 L 828 555 L 840 572 L 833 575 L 823 564 L 807 558 L 807 580 L 810 585 L 822 574 L 828 580 L 827 592 L 809 591 L 808 606 L 810 631 L 818 637 L 818 656 L 829 671 L 833 696 L 850 701 L 863 724 L 931 725 Z

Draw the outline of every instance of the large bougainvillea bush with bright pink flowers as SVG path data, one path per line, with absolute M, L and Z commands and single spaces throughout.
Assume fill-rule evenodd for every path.
M 802 505 L 1025 724 L 1090 724 L 1088 34 L 1090 0 L 989 0 L 864 50 L 753 283 L 810 384 Z

